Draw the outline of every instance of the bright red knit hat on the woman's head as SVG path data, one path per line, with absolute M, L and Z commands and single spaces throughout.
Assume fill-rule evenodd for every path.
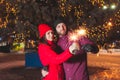
M 45 33 L 48 30 L 52 30 L 52 28 L 50 26 L 48 26 L 47 24 L 40 24 L 38 26 L 38 30 L 39 30 L 40 38 L 42 38 L 45 35 Z

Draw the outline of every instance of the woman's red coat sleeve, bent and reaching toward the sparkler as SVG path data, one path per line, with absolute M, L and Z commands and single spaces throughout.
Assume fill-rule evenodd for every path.
M 65 50 L 63 53 L 58 55 L 50 47 L 47 46 L 39 46 L 38 53 L 43 65 L 61 64 L 72 56 L 69 50 Z

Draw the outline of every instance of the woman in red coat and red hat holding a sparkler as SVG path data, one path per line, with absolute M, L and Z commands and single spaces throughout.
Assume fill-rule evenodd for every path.
M 58 54 L 54 50 L 54 34 L 51 27 L 47 24 L 40 24 L 38 30 L 40 34 L 39 57 L 43 66 L 48 68 L 48 74 L 42 80 L 64 80 L 62 63 L 75 54 L 74 50 L 79 50 L 79 45 L 73 43 L 64 52 Z

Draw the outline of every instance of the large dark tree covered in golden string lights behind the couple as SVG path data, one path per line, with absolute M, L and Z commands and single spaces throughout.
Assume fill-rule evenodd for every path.
M 38 24 L 53 26 L 57 17 L 70 28 L 86 26 L 89 37 L 100 44 L 109 41 L 113 28 L 120 25 L 119 0 L 1 0 L 0 7 L 0 36 L 16 34 L 16 41 L 21 36 L 38 39 Z

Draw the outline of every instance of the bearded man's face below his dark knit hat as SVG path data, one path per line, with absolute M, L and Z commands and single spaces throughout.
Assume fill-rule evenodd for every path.
M 59 36 L 63 36 L 66 34 L 66 25 L 64 23 L 59 23 L 57 26 L 56 26 L 56 32 L 58 33 Z

